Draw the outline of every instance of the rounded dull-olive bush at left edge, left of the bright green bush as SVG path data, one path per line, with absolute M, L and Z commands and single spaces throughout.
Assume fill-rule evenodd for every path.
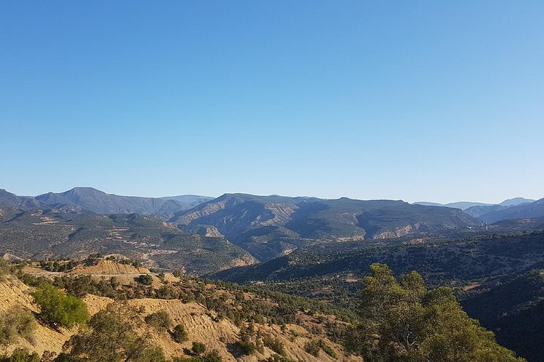
M 0 344 L 11 344 L 17 337 L 28 338 L 36 327 L 34 315 L 16 306 L 0 315 Z

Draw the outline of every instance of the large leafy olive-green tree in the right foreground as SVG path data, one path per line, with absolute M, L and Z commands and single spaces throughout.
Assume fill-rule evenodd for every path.
M 364 279 L 360 313 L 348 347 L 371 361 L 523 361 L 460 308 L 450 288 L 428 291 L 421 276 L 399 280 L 385 264 Z

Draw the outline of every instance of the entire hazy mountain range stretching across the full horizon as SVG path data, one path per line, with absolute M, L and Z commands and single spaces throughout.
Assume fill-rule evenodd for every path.
M 223 238 L 260 262 L 288 255 L 314 243 L 368 243 L 368 240 L 418 238 L 429 233 L 482 228 L 509 218 L 544 216 L 544 199 L 509 199 L 501 204 L 435 206 L 395 200 L 318 199 L 315 197 L 224 194 L 131 197 L 91 187 L 36 197 L 0 190 L 0 206 L 40 209 L 57 214 L 140 214 L 155 216 L 183 233 Z M 451 206 L 470 206 L 464 211 Z M 457 230 L 457 231 L 455 231 Z

